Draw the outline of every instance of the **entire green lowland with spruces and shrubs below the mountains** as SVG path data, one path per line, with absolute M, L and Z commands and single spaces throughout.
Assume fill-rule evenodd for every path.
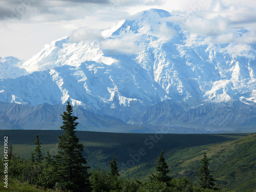
M 11 149 L 8 152 L 8 191 L 227 192 L 230 190 L 225 188 L 255 189 L 256 134 L 75 132 L 77 117 L 72 115 L 69 103 L 62 119 L 62 131 L 0 132 L 8 136 Z M 59 138 L 58 142 L 54 137 Z M 15 153 L 17 151 L 20 155 Z M 113 153 L 115 155 L 111 156 Z M 3 170 L 4 158 L 1 161 Z M 87 164 L 92 165 L 90 170 Z M 4 172 L 0 177 L 4 180 Z M 1 191 L 6 190 L 3 182 L 0 187 Z

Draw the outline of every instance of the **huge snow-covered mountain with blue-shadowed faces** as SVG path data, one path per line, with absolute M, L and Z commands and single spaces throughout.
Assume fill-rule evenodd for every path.
M 254 108 L 256 46 L 214 44 L 170 22 L 172 17 L 151 9 L 101 33 L 81 28 L 55 40 L 16 65 L 29 75 L 20 72 L 23 76 L 0 81 L 0 101 L 39 105 L 71 100 L 91 112 L 149 124 L 159 119 L 141 121 L 140 113 L 164 100 L 185 102 L 185 110 L 208 102 Z M 236 34 L 240 38 L 247 32 Z

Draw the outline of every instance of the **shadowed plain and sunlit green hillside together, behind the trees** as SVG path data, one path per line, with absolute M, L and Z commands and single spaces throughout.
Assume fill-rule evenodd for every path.
M 14 153 L 30 158 L 35 135 L 42 143 L 42 152 L 57 153 L 58 135 L 62 131 L 1 130 L 0 137 L 8 136 Z M 200 167 L 203 151 L 212 158 L 211 169 L 217 184 L 222 187 L 253 189 L 255 174 L 255 135 L 250 134 L 121 134 L 77 131 L 85 145 L 84 156 L 89 166 L 109 169 L 115 154 L 121 177 L 145 178 L 155 173 L 161 150 L 170 167 L 170 175 L 193 179 Z M 0 150 L 3 154 L 3 150 Z M 244 159 L 241 159 L 245 156 Z M 250 166 L 249 166 L 250 165 Z M 226 169 L 228 167 L 228 169 Z M 240 175 L 239 175 L 240 174 Z

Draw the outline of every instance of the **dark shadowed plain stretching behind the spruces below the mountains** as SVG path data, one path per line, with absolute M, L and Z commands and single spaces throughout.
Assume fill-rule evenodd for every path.
M 42 143 L 42 152 L 47 151 L 55 155 L 57 153 L 58 136 L 62 131 L 39 131 L 39 130 L 0 130 L 0 137 L 8 136 L 9 144 L 12 143 L 14 153 L 25 158 L 30 158 L 34 150 L 35 135 L 39 135 Z M 124 134 L 124 133 L 103 133 L 77 131 L 81 143 L 85 145 L 84 156 L 92 167 L 100 165 L 103 168 L 109 167 L 109 161 L 113 154 L 117 157 L 120 165 L 131 167 L 149 162 L 156 158 L 163 149 L 165 152 L 177 147 L 201 146 L 211 143 L 219 143 L 228 140 L 238 139 L 246 134 Z M 139 150 L 144 149 L 144 156 L 135 158 Z M 3 154 L 3 149 L 0 150 Z M 137 162 L 138 161 L 138 162 Z M 120 167 L 121 168 L 121 167 Z

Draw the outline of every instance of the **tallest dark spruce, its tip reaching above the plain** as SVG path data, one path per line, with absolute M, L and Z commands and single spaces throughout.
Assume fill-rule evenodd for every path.
M 75 122 L 78 117 L 73 116 L 73 108 L 70 102 L 67 104 L 67 112 L 63 112 L 63 125 L 58 142 L 58 154 L 55 156 L 55 180 L 56 187 L 71 191 L 89 191 L 89 173 L 87 160 L 82 156 L 83 145 L 79 144 L 79 138 L 75 134 L 78 125 Z

